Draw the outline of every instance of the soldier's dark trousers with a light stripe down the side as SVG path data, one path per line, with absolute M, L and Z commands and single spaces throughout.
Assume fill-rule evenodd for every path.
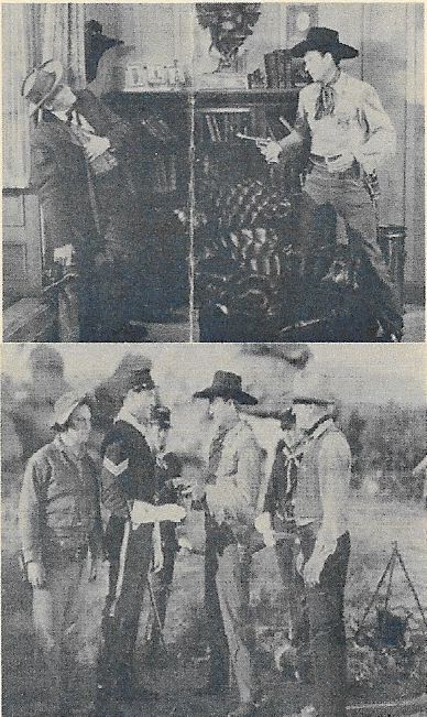
M 127 524 L 119 561 L 110 563 L 100 661 L 101 682 L 128 682 L 152 560 L 153 525 Z

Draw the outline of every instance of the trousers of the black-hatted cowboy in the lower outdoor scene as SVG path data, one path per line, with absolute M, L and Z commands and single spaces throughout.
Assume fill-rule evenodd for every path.
M 250 623 L 251 553 L 237 542 L 218 544 L 220 532 L 206 519 L 205 607 L 210 647 L 210 682 L 227 685 L 231 664 L 240 702 L 253 697 Z

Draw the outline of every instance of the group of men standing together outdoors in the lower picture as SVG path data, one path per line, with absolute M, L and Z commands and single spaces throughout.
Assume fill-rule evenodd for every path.
M 103 439 L 100 476 L 87 452 L 90 402 L 73 393 L 58 399 L 56 436 L 30 458 L 24 475 L 19 520 L 34 626 L 50 675 L 44 714 L 73 714 L 67 630 L 88 554 L 89 580 L 101 561 L 109 562 L 94 714 L 121 714 L 121 702 L 156 698 L 138 685 L 134 672 L 142 602 L 147 590 L 146 637 L 154 654 L 178 550 L 176 524 L 191 506 L 205 512 L 206 528 L 210 650 L 201 693 L 223 694 L 231 669 L 239 704 L 230 715 L 251 717 L 260 709 L 249 613 L 251 561 L 260 547 L 275 546 L 283 588 L 292 596 L 289 638 L 297 644 L 303 633 L 309 635 L 313 714 L 344 717 L 350 450 L 332 417 L 327 379 L 307 374 L 296 387 L 292 409 L 281 412 L 283 439 L 267 475 L 265 450 L 241 411 L 258 400 L 242 390 L 240 376 L 217 371 L 211 385 L 194 395 L 208 402 L 212 421 L 207 472 L 196 482 L 184 481 L 177 457 L 165 454 L 171 412 L 161 404 L 150 370 L 130 371 L 121 398 Z M 105 531 L 100 506 L 108 513 Z

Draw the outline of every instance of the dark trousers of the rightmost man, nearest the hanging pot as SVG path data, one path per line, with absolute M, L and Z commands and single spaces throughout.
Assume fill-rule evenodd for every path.
M 304 561 L 313 553 L 315 536 L 309 528 L 299 530 Z M 306 610 L 318 717 L 346 717 L 347 650 L 344 587 L 350 557 L 350 535 L 338 539 L 315 587 L 306 586 Z

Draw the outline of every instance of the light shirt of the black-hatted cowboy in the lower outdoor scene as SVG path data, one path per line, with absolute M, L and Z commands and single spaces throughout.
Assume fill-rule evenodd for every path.
M 253 526 L 264 459 L 251 426 L 239 420 L 223 437 L 212 484 L 206 487 L 209 513 L 217 523 Z

